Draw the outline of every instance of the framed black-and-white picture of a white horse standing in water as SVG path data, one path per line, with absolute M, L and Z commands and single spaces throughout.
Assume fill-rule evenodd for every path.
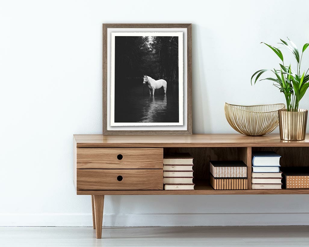
M 192 24 L 103 24 L 103 134 L 192 134 Z

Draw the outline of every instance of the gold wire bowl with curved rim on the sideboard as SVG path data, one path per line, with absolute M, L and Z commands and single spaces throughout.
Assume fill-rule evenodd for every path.
M 238 106 L 225 103 L 227 122 L 237 132 L 247 136 L 263 136 L 279 125 L 278 110 L 285 104 Z

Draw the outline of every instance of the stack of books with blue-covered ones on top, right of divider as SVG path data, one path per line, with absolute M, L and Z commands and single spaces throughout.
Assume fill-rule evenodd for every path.
M 270 151 L 253 153 L 252 189 L 281 189 L 280 158 Z

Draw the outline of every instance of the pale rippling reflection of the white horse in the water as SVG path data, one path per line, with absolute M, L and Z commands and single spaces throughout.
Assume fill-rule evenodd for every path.
M 142 103 L 143 117 L 140 122 L 154 123 L 165 117 L 167 109 L 166 95 L 149 95 L 149 98 L 145 97 Z M 158 119 L 158 116 L 160 116 L 160 119 Z

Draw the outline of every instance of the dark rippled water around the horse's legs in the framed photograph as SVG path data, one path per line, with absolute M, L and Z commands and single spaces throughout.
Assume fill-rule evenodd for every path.
M 147 86 L 116 88 L 115 85 L 115 123 L 178 123 L 178 91 L 164 95 L 163 88 L 149 95 Z

